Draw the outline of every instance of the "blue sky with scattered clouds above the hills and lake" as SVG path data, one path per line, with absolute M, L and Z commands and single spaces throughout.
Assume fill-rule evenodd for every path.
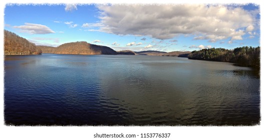
M 75 41 L 114 50 L 260 46 L 260 9 L 245 4 L 6 4 L 4 28 L 36 45 Z

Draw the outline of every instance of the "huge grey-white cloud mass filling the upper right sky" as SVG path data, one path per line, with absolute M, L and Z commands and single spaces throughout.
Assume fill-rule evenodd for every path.
M 211 42 L 242 36 L 254 29 L 258 20 L 254 15 L 259 13 L 259 9 L 253 12 L 223 4 L 104 4 L 98 8 L 103 24 L 99 31 L 157 39 L 193 34 L 197 36 L 194 39 Z

